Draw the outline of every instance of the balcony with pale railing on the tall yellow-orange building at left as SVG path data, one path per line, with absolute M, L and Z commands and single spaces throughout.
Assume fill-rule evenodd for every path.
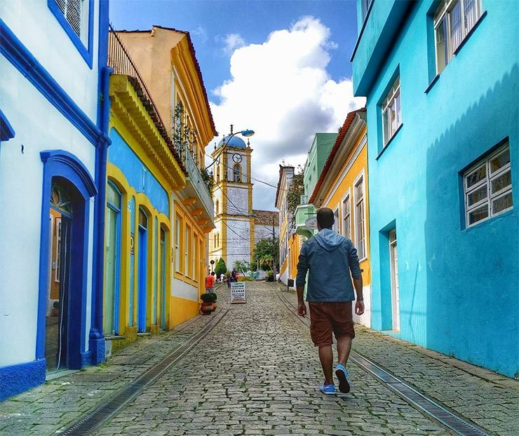
M 184 192 L 187 194 L 187 199 L 194 198 L 194 200 L 191 200 L 193 202 L 191 204 L 194 204 L 193 214 L 198 216 L 198 224 L 201 226 L 214 227 L 215 206 L 213 198 L 211 198 L 207 186 L 205 186 L 201 172 L 193 156 L 191 156 L 191 151 L 184 145 L 182 152 L 179 154 L 187 171 L 187 184 Z

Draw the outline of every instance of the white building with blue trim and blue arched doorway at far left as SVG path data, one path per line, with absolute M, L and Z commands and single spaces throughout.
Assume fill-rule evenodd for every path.
M 0 400 L 105 357 L 107 32 L 108 1 L 0 3 Z

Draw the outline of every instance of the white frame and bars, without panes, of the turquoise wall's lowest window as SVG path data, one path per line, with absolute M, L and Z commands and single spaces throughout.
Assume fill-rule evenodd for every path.
M 497 200 L 498 198 L 504 197 L 508 195 L 508 193 L 512 194 L 512 201 L 513 201 L 513 192 L 512 192 L 512 183 L 505 186 L 503 189 L 500 189 L 497 192 L 492 193 L 492 182 L 500 177 L 501 175 L 504 175 L 506 172 L 511 172 L 511 162 L 506 163 L 498 170 L 495 170 L 494 172 L 491 171 L 490 168 L 490 162 L 497 158 L 497 156 L 505 153 L 508 150 L 508 155 L 510 155 L 510 143 L 506 141 L 506 144 L 504 144 L 502 147 L 499 147 L 497 151 L 494 151 L 494 153 L 490 154 L 490 156 L 487 156 L 483 159 L 480 159 L 478 163 L 475 165 L 472 165 L 469 170 L 466 170 L 463 174 L 463 187 L 464 187 L 464 204 L 465 204 L 465 226 L 466 228 L 476 226 L 477 224 L 480 224 L 482 222 L 487 221 L 487 219 L 491 219 L 493 217 L 496 217 L 497 215 L 500 215 L 504 212 L 507 212 L 508 210 L 513 209 L 513 203 L 511 207 L 507 207 L 504 210 L 499 210 L 499 212 L 493 212 L 493 203 L 494 200 Z M 476 184 L 473 184 L 472 186 L 467 186 L 467 179 L 468 176 L 471 175 L 474 171 L 485 167 L 485 177 L 481 179 Z M 510 177 L 511 178 L 511 177 Z M 469 196 L 471 193 L 478 191 L 478 189 L 482 189 L 483 186 L 486 186 L 487 189 L 487 196 L 476 203 L 473 203 L 469 206 Z M 487 206 L 487 217 L 480 219 L 476 222 L 473 222 L 470 224 L 469 222 L 469 214 L 473 212 L 474 210 L 479 209 L 480 207 Z

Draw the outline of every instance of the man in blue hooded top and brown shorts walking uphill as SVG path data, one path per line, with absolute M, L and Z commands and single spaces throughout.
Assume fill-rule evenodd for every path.
M 355 313 L 364 313 L 362 275 L 358 266 L 357 250 L 351 240 L 332 230 L 335 223 L 333 211 L 322 207 L 317 212 L 319 233 L 307 240 L 301 247 L 297 264 L 296 290 L 297 314 L 306 315 L 303 292 L 306 272 L 309 273 L 306 301 L 310 309 L 310 334 L 319 347 L 319 360 L 325 381 L 319 388 L 322 393 L 334 394 L 332 378 L 333 352 L 332 332 L 337 339 L 338 365 L 335 375 L 339 379 L 339 390 L 349 393 L 350 379 L 346 362 L 351 350 L 353 329 L 352 301 L 355 299 L 351 277 L 357 294 Z

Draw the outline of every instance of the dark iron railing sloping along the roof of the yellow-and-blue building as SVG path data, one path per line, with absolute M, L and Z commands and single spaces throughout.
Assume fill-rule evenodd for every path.
M 123 74 L 128 76 L 132 86 L 135 88 L 138 97 L 140 98 L 144 108 L 147 110 L 151 120 L 156 125 L 157 130 L 161 137 L 164 139 L 166 144 L 168 144 L 168 149 L 171 151 L 173 156 L 180 165 L 182 166 L 182 170 L 185 172 L 184 164 L 182 163 L 182 159 L 178 156 L 175 147 L 173 147 L 173 142 L 171 142 L 170 135 L 168 135 L 168 130 L 159 115 L 159 111 L 157 111 L 156 106 L 151 98 L 151 94 L 149 93 L 148 88 L 144 84 L 142 80 L 142 76 L 139 74 L 139 70 L 135 66 L 128 50 L 123 44 L 123 41 L 117 36 L 116 31 L 112 25 L 109 25 L 109 35 L 108 35 L 108 66 L 114 69 L 114 74 Z

